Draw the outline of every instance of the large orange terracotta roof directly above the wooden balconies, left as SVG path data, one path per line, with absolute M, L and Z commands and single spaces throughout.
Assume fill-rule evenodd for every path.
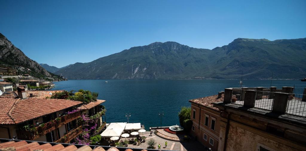
M 65 99 L 0 98 L 0 124 L 18 124 L 80 104 Z

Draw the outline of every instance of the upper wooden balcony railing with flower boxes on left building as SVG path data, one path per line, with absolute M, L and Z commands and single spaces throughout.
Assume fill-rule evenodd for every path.
M 46 135 L 47 133 L 55 130 L 56 128 L 61 127 L 64 124 L 67 124 L 78 117 L 81 116 L 81 112 L 75 112 L 68 115 L 65 115 L 60 118 L 60 120 L 51 120 L 48 123 L 45 123 L 45 126 L 37 126 L 32 128 L 32 130 L 16 130 L 18 139 L 24 140 L 34 140 L 40 136 Z

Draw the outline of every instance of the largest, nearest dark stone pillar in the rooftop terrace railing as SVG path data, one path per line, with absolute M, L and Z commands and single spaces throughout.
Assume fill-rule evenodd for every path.
M 275 92 L 272 112 L 285 114 L 288 105 L 288 99 L 288 93 Z

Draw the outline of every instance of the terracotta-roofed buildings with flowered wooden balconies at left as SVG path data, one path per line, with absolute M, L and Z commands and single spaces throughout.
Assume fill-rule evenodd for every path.
M 1 138 L 72 143 L 82 133 L 77 118 L 82 113 L 97 114 L 100 104 L 105 102 L 97 100 L 84 105 L 80 101 L 47 99 L 55 92 L 60 91 L 25 91 L 18 87 L 17 92 L 1 95 Z M 99 118 L 97 128 L 103 124 L 102 117 Z

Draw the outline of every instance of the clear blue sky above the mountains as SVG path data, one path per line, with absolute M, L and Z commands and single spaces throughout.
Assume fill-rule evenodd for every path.
M 38 63 L 91 62 L 176 41 L 213 49 L 236 38 L 306 37 L 306 1 L 0 2 L 0 32 Z

